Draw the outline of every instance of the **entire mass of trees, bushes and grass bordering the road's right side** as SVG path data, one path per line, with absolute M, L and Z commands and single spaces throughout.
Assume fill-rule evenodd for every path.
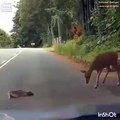
M 98 0 L 20 0 L 16 7 L 14 46 L 35 43 L 87 64 L 100 53 L 120 51 L 120 7 L 100 8 Z

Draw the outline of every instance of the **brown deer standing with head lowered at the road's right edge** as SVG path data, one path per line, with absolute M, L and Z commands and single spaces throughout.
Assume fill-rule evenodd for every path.
M 88 71 L 81 70 L 81 72 L 85 73 L 86 84 L 89 83 L 92 72 L 94 70 L 96 70 L 97 71 L 97 79 L 96 79 L 95 88 L 97 88 L 99 86 L 99 77 L 102 73 L 102 70 L 104 68 L 107 69 L 107 73 L 103 80 L 103 83 L 104 83 L 106 81 L 108 73 L 112 71 L 112 68 L 114 68 L 115 71 L 117 71 L 117 73 L 118 73 L 117 85 L 120 85 L 120 66 L 119 66 L 118 62 L 119 61 L 118 61 L 118 53 L 117 52 L 107 52 L 107 53 L 99 54 L 92 62 Z M 111 66 L 112 66 L 112 68 L 111 68 Z

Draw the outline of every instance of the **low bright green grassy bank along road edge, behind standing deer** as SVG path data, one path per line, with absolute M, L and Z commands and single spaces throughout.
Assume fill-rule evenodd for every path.
M 74 40 L 69 40 L 66 44 L 54 45 L 53 51 L 90 64 L 94 58 L 107 51 L 120 51 L 120 39 L 111 38 L 102 44 L 98 44 L 95 37 L 83 37 L 81 44 L 76 44 Z

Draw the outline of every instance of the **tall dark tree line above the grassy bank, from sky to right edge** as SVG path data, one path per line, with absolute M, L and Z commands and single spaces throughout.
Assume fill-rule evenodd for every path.
M 51 45 L 56 39 L 63 42 L 72 39 L 73 26 L 80 26 L 87 35 L 100 37 L 119 31 L 120 8 L 100 9 L 96 2 L 98 0 L 20 0 L 13 19 L 15 45 L 29 47 L 34 42 L 38 47 Z

